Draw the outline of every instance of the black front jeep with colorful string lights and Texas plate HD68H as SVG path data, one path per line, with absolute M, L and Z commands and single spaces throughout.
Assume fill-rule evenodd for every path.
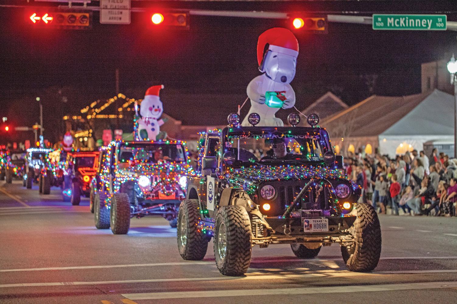
M 358 204 L 358 185 L 340 172 L 328 132 L 309 115 L 311 127 L 239 126 L 228 117 L 223 130 L 202 134 L 199 168 L 187 178 L 186 200 L 178 215 L 178 248 L 185 260 L 202 260 L 210 239 L 224 275 L 243 275 L 251 247 L 291 244 L 300 258 L 314 258 L 322 246 L 338 243 L 346 267 L 366 272 L 377 266 L 381 229 L 369 204 Z M 273 154 L 257 158 L 249 149 L 272 145 Z M 285 144 L 285 146 L 282 146 Z M 275 149 L 290 148 L 285 156 Z M 287 151 L 287 150 L 286 150 Z

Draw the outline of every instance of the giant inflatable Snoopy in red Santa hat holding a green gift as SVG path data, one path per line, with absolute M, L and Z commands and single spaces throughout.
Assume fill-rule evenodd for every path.
M 248 115 L 242 126 L 250 126 L 248 116 L 260 115 L 257 126 L 284 126 L 275 117 L 279 109 L 289 109 L 295 105 L 295 92 L 290 82 L 297 66 L 298 41 L 291 31 L 274 27 L 264 31 L 257 42 L 257 62 L 263 74 L 248 84 L 246 92 L 251 101 Z

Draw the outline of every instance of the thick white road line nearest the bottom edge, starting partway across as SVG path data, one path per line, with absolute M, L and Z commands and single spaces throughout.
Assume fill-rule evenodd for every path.
M 434 283 L 400 283 L 379 285 L 351 285 L 329 287 L 304 287 L 304 288 L 273 288 L 273 289 L 234 289 L 234 290 L 203 290 L 186 292 L 160 292 L 142 294 L 122 294 L 132 300 L 149 299 L 186 299 L 186 298 L 215 298 L 215 297 L 249 297 L 265 295 L 291 295 L 291 294 L 335 294 L 371 291 L 412 290 L 412 289 L 435 289 L 457 287 L 456 282 Z

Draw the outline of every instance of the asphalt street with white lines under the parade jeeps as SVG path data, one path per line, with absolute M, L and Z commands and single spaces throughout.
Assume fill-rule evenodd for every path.
M 88 199 L 61 201 L 0 181 L 0 303 L 456 303 L 457 219 L 380 216 L 381 261 L 345 269 L 338 245 L 314 260 L 290 246 L 253 249 L 243 278 L 224 277 L 213 243 L 184 261 L 176 229 L 133 219 L 128 235 L 97 230 Z

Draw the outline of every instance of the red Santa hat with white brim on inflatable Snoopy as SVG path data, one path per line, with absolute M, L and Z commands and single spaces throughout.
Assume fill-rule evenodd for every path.
M 261 33 L 257 41 L 257 62 L 259 66 L 268 50 L 297 58 L 297 38 L 287 28 L 273 27 Z

